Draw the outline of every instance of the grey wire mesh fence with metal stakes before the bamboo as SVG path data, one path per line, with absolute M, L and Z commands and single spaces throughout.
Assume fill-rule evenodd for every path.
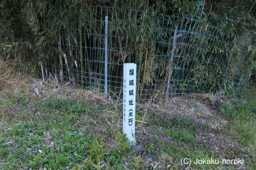
M 137 98 L 166 100 L 208 92 L 218 64 L 226 61 L 218 44 L 229 41 L 227 36 L 205 21 L 105 6 L 91 6 L 87 13 L 92 20 L 61 32 L 78 86 L 122 96 L 123 64 L 136 63 Z M 51 60 L 47 68 L 60 76 L 60 63 Z M 63 76 L 68 79 L 66 64 Z

